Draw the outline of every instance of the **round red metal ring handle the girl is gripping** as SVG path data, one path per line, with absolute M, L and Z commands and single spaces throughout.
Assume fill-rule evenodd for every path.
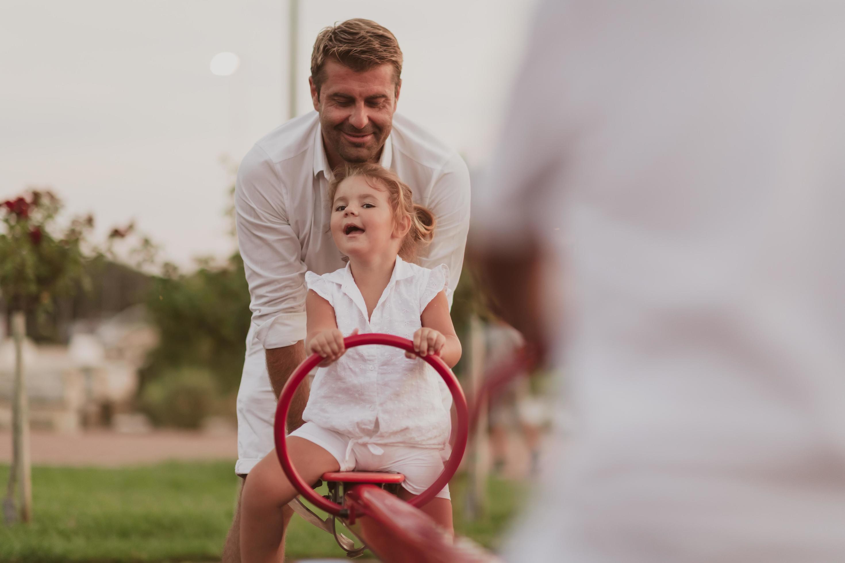
M 363 346 L 365 344 L 383 344 L 385 346 L 401 348 L 408 352 L 414 351 L 414 344 L 407 338 L 381 333 L 347 336 L 343 339 L 343 344 L 347 349 L 354 348 L 355 346 Z M 316 367 L 322 360 L 323 359 L 317 354 L 310 355 L 308 358 L 303 360 L 302 364 L 297 366 L 297 369 L 293 371 L 290 377 L 288 377 L 285 387 L 282 388 L 281 395 L 279 396 L 279 404 L 275 409 L 275 453 L 279 457 L 279 463 L 281 463 L 281 468 L 285 472 L 287 479 L 290 479 L 292 485 L 301 495 L 303 495 L 308 501 L 311 501 L 314 506 L 317 506 L 325 512 L 329 512 L 335 516 L 340 516 L 341 512 L 344 510 L 343 506 L 337 504 L 336 502 L 329 501 L 328 499 L 324 499 L 322 496 L 318 495 L 317 492 L 311 488 L 311 485 L 303 480 L 297 472 L 297 469 L 293 467 L 291 456 L 287 451 L 285 421 L 287 420 L 287 412 L 291 408 L 293 393 L 296 392 L 297 387 L 299 387 L 299 384 L 303 382 L 303 379 L 308 376 L 308 372 L 313 370 L 313 368 Z M 408 501 L 408 504 L 411 506 L 425 505 L 449 483 L 449 480 L 452 479 L 452 476 L 461 464 L 461 457 L 464 456 L 464 452 L 466 451 L 466 439 L 467 436 L 469 436 L 469 413 L 466 408 L 466 397 L 464 396 L 461 384 L 458 383 L 458 379 L 455 377 L 455 374 L 452 373 L 449 366 L 446 365 L 445 362 L 437 355 L 427 355 L 423 357 L 423 360 L 426 360 L 428 365 L 431 365 L 434 370 L 443 377 L 446 387 L 449 387 L 449 390 L 452 393 L 452 398 L 455 399 L 455 410 L 457 411 L 458 420 L 457 428 L 453 429 L 453 432 L 455 432 L 455 445 L 452 447 L 452 455 L 450 456 L 449 461 L 446 462 L 443 471 L 433 484 L 428 487 L 428 489 L 424 490 L 419 496 L 414 497 L 411 501 Z

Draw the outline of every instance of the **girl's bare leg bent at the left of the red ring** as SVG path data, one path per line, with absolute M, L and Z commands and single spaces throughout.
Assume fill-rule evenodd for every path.
M 326 471 L 337 471 L 335 457 L 312 441 L 292 436 L 288 451 L 299 474 L 314 483 Z M 281 470 L 275 450 L 249 472 L 243 484 L 241 512 L 241 560 L 243 563 L 278 563 L 284 554 L 279 546 L 284 533 L 282 507 L 298 495 Z

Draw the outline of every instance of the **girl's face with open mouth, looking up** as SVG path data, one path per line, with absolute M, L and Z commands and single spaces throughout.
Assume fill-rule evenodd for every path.
M 395 225 L 387 190 L 371 186 L 378 186 L 376 182 L 352 176 L 341 181 L 335 192 L 331 236 L 337 248 L 351 259 L 396 254 L 405 235 Z

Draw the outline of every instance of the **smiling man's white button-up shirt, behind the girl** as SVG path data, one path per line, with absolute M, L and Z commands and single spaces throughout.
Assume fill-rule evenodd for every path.
M 380 164 L 395 171 L 411 187 L 414 203 L 437 218 L 420 263 L 446 264 L 454 290 L 469 229 L 466 164 L 454 149 L 398 114 Z M 327 273 L 343 266 L 329 230 L 330 178 L 316 111 L 275 128 L 238 169 L 237 240 L 252 297 L 255 344 L 265 349 L 305 338 L 306 270 Z

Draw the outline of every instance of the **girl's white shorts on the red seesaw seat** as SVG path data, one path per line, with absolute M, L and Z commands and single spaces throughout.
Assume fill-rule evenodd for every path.
M 435 448 L 362 444 L 313 422 L 306 422 L 293 430 L 290 436 L 304 438 L 322 447 L 335 457 L 341 471 L 401 473 L 405 475 L 402 486 L 412 495 L 423 493 L 443 471 L 443 457 Z M 449 499 L 449 485 L 437 496 Z

